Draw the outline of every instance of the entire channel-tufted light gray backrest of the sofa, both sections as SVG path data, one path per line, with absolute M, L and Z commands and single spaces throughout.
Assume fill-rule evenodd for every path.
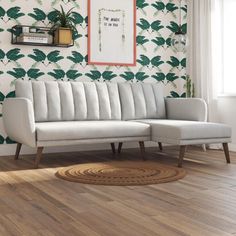
M 17 81 L 16 97 L 32 101 L 36 122 L 165 118 L 158 84 Z

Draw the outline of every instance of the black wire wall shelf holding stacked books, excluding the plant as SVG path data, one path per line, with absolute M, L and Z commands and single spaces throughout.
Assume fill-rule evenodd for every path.
M 33 42 L 35 41 L 35 42 Z M 54 33 L 50 33 L 49 27 L 15 25 L 11 29 L 11 43 L 17 45 L 28 46 L 44 46 L 44 47 L 72 47 L 71 44 L 54 43 Z

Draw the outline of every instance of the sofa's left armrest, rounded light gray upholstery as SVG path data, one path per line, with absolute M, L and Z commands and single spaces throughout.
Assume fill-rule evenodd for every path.
M 26 98 L 8 98 L 3 103 L 3 124 L 14 141 L 36 146 L 33 104 Z

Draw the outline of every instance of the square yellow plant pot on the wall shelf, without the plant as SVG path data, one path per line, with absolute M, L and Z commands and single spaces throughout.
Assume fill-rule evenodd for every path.
M 70 45 L 73 43 L 72 30 L 59 27 L 55 30 L 54 43 L 59 45 Z

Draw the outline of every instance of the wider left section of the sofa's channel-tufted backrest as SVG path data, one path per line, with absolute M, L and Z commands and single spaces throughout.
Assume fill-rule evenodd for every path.
M 120 120 L 116 83 L 17 81 L 16 97 L 34 105 L 35 120 Z

